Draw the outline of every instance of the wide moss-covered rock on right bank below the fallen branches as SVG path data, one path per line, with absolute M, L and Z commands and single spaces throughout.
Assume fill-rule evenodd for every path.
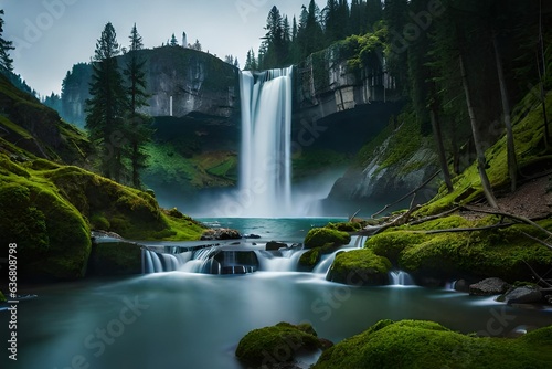
M 531 281 L 532 273 L 527 264 L 538 273 L 550 271 L 552 253 L 523 234 L 540 235 L 540 231 L 529 225 L 477 232 L 425 233 L 428 230 L 479 228 L 498 221 L 495 217 L 468 221 L 452 215 L 421 225 L 388 230 L 369 239 L 365 247 L 389 257 L 393 264 L 414 277 L 443 281 L 500 277 L 513 283 Z M 552 228 L 550 220 L 540 223 L 544 228 Z

